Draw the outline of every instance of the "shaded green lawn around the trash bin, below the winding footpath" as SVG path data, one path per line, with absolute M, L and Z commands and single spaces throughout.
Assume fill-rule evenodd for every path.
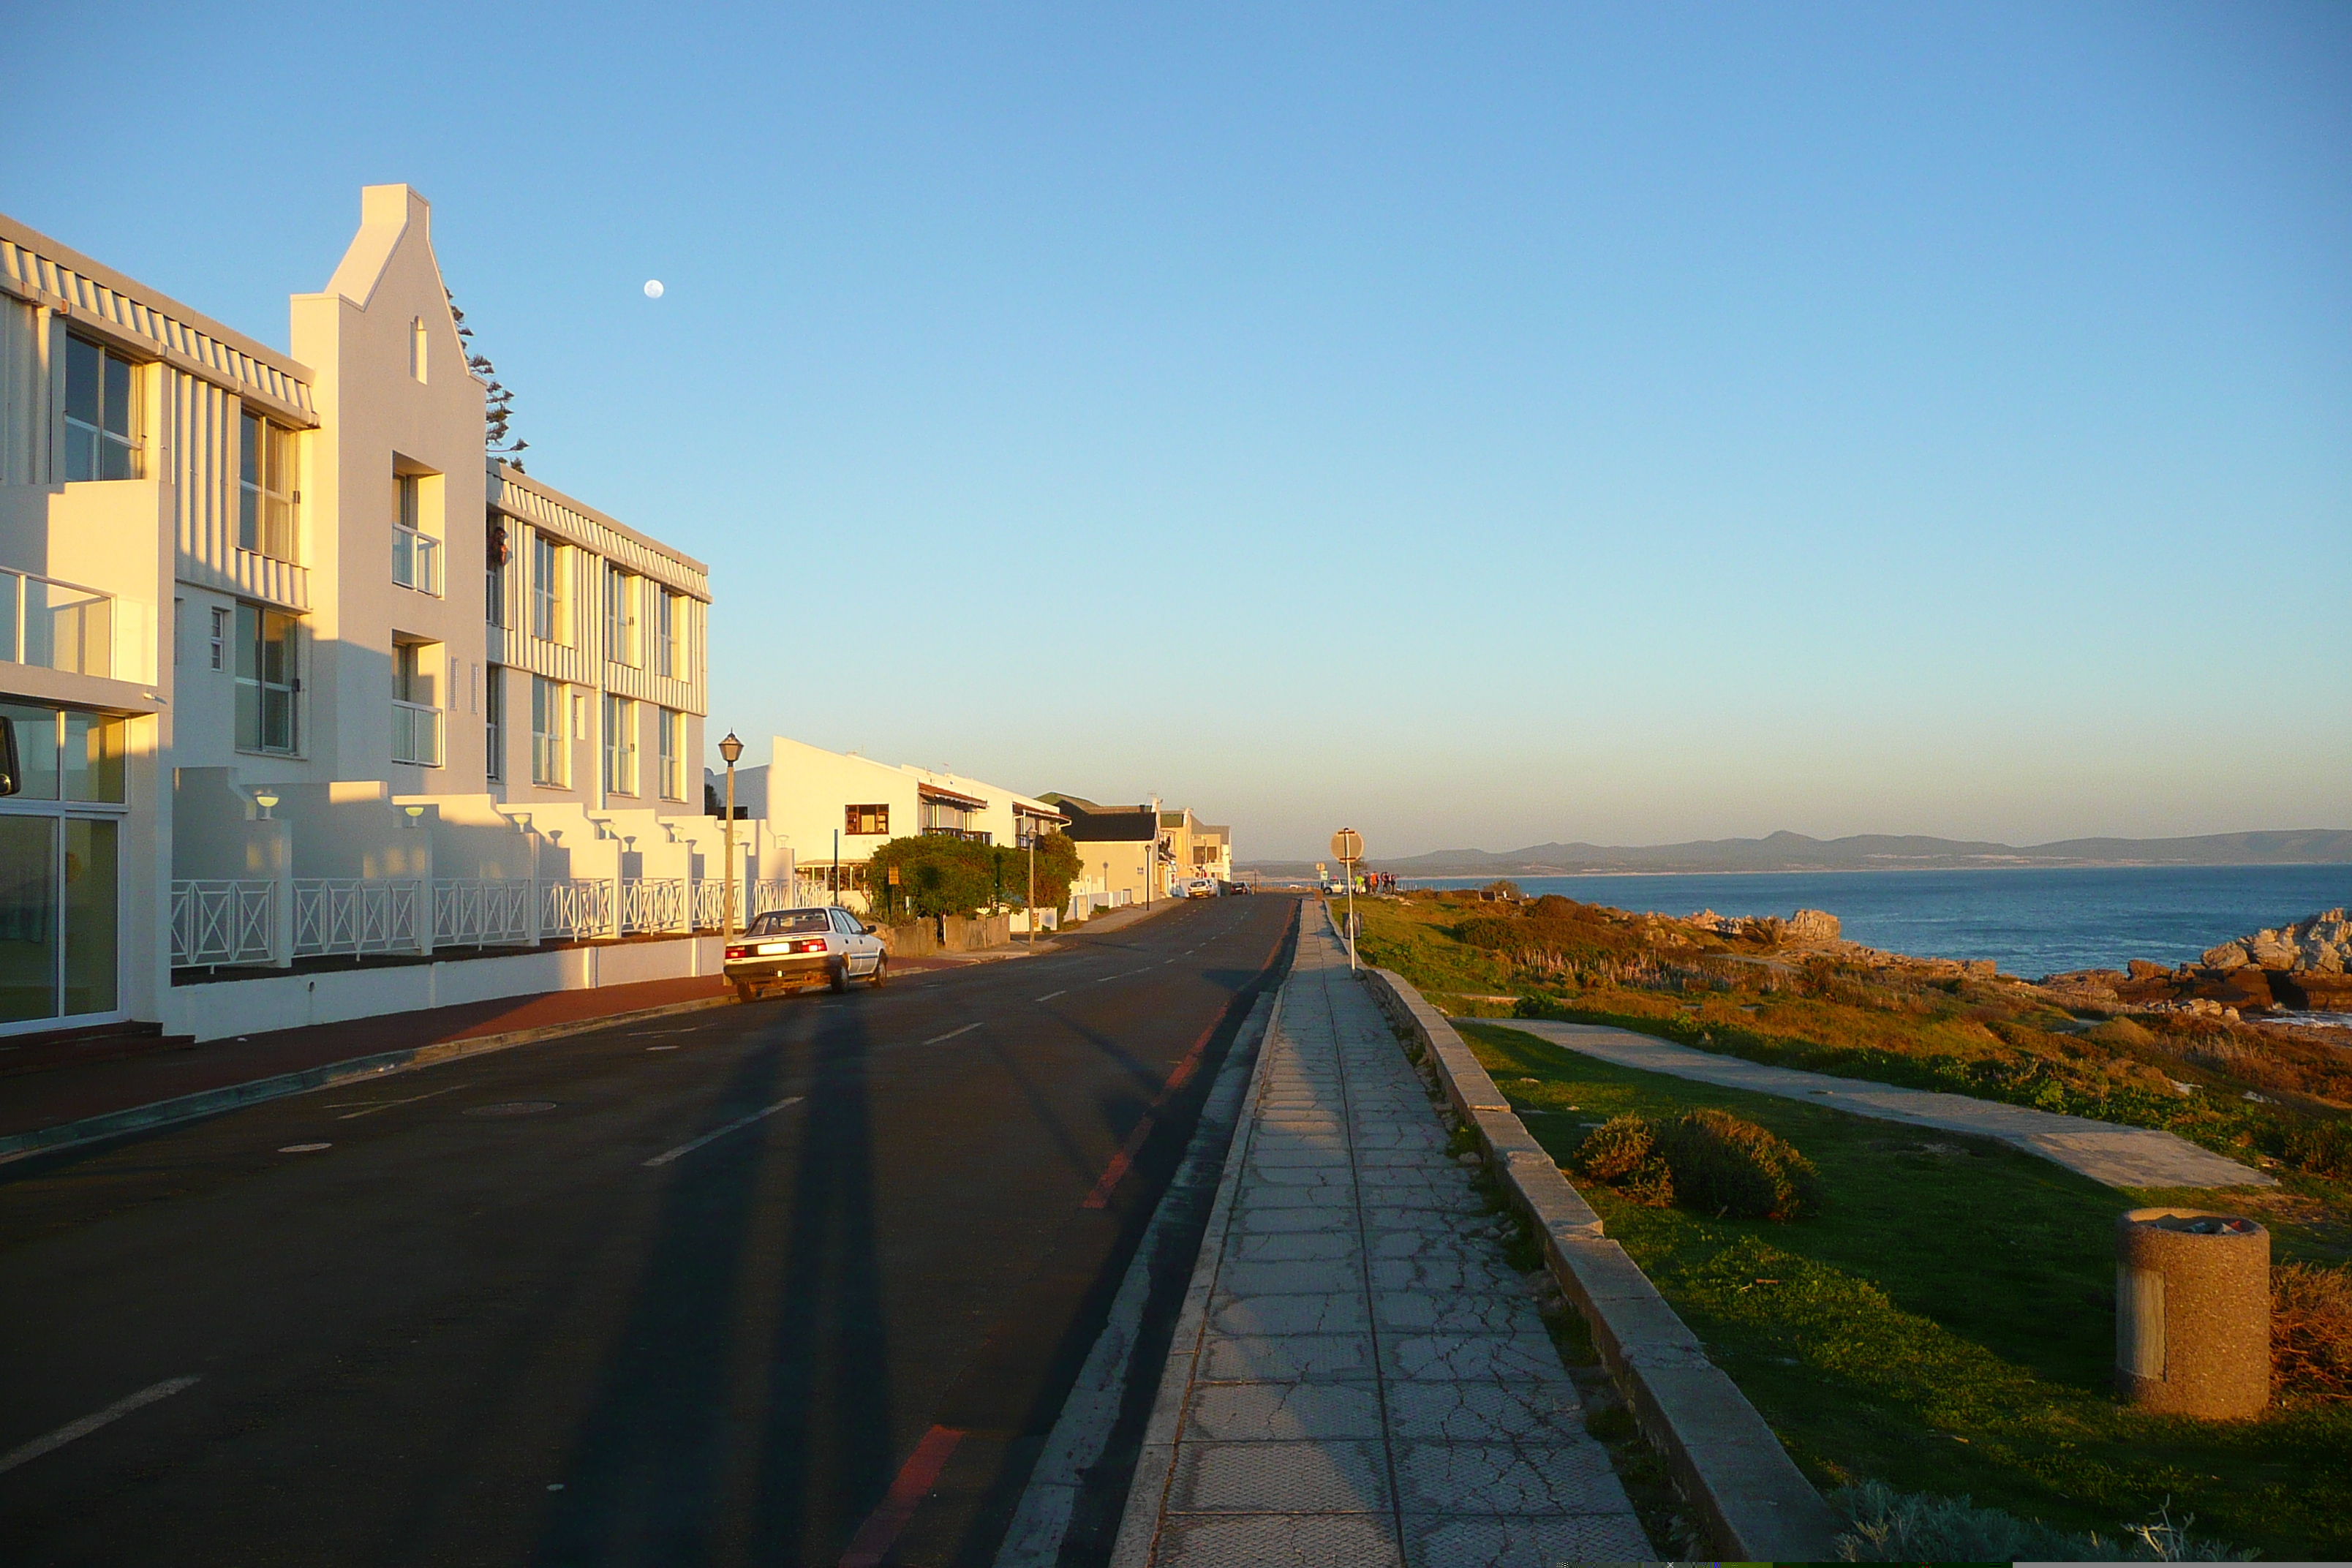
M 1820 1168 L 1813 1220 L 1705 1220 L 1581 1185 L 1823 1488 L 1969 1493 L 2110 1535 L 2171 1505 L 2274 1559 L 2352 1559 L 2352 1406 L 2199 1425 L 2112 1396 L 2114 1192 L 2006 1145 L 1635 1072 L 1501 1025 L 1463 1037 L 1566 1159 L 1621 1112 L 1722 1107 Z M 1524 1081 L 1534 1079 L 1534 1081 Z

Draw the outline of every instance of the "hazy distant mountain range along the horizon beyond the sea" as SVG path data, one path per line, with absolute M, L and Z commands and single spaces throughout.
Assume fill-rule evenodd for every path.
M 2058 844 L 1978 844 L 1919 835 L 1860 832 L 1811 839 L 1776 832 L 1764 839 L 1693 839 L 1691 844 L 1536 844 L 1531 849 L 1437 849 L 1402 860 L 1367 860 L 1397 877 L 1592 877 L 1609 872 L 1917 872 L 2016 865 L 2340 865 L 2352 863 L 2352 830 L 2209 832 L 2192 839 L 2060 839 Z M 1270 877 L 1312 872 L 1312 860 L 1249 860 Z

